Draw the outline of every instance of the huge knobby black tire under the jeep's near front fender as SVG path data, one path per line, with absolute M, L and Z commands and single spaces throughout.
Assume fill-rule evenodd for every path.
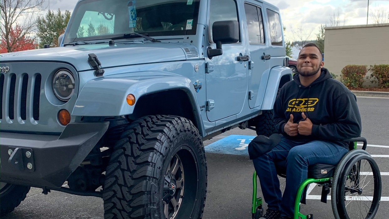
M 124 128 L 113 149 L 103 186 L 105 219 L 166 219 L 164 185 L 175 157 L 185 180 L 177 180 L 174 191 L 182 202 L 173 219 L 202 218 L 207 162 L 191 121 L 164 115 L 139 118 Z

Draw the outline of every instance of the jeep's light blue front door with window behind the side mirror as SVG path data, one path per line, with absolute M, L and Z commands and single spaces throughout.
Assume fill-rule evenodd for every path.
M 242 111 L 247 99 L 248 76 L 247 62 L 238 61 L 238 57 L 247 55 L 245 37 L 242 37 L 243 22 L 238 19 L 238 7 L 235 0 L 210 0 L 208 43 L 215 49 L 212 41 L 212 24 L 215 21 L 235 20 L 239 23 L 240 41 L 223 44 L 223 55 L 205 58 L 213 65 L 214 71 L 206 74 L 207 117 L 210 122 L 220 120 Z

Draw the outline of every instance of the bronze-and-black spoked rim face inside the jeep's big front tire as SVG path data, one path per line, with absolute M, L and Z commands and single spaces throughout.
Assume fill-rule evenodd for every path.
M 163 209 L 166 219 L 175 219 L 184 194 L 184 167 L 178 154 L 170 160 L 165 173 Z

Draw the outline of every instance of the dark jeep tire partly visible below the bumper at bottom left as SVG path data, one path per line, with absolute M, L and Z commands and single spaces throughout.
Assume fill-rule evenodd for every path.
M 5 184 L 0 191 L 0 216 L 12 212 L 21 201 L 25 200 L 30 187 Z

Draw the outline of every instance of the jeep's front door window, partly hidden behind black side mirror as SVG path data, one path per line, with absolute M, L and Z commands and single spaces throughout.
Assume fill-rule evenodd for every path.
M 212 41 L 212 25 L 215 21 L 238 21 L 237 3 L 234 0 L 211 0 L 209 11 L 209 42 Z M 240 25 L 239 25 L 240 26 Z M 240 32 L 240 31 L 239 31 Z M 240 33 L 239 33 L 240 39 Z M 240 40 L 239 40 L 240 42 Z

